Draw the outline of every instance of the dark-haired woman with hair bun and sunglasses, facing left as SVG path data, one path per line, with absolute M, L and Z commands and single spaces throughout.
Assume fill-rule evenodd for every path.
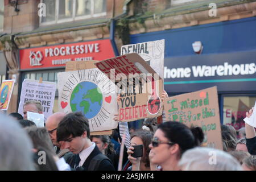
M 180 122 L 164 122 L 154 134 L 149 154 L 150 162 L 158 164 L 163 171 L 180 170 L 177 166 L 181 155 L 193 147 L 200 146 L 204 133 L 200 127 L 189 129 Z

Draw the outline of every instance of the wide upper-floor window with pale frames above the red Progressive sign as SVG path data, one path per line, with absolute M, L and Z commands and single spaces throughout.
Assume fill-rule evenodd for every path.
M 46 4 L 46 16 L 40 24 L 70 22 L 106 15 L 106 0 L 41 0 Z

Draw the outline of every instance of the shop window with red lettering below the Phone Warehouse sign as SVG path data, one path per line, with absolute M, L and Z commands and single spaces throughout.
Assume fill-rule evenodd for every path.
M 232 125 L 236 130 L 245 127 L 243 118 L 254 106 L 256 96 L 224 96 L 223 124 Z

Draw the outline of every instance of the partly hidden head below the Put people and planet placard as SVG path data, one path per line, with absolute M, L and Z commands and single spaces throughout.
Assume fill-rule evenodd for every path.
M 24 119 L 27 119 L 27 111 L 30 111 L 32 113 L 43 114 L 43 106 L 39 101 L 30 100 L 25 102 L 23 106 Z

